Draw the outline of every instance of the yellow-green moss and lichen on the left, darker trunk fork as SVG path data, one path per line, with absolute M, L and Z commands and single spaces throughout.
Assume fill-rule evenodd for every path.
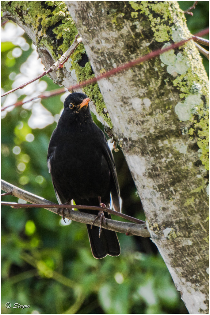
M 30 29 L 32 40 L 46 67 L 51 66 L 61 57 L 71 46 L 78 33 L 67 6 L 62 1 L 3 1 L 2 10 L 4 16 L 8 15 L 8 18 L 20 24 L 25 30 Z M 79 65 L 83 58 L 85 64 Z M 64 65 L 63 69 L 50 74 L 55 83 L 70 86 L 72 81 L 66 82 L 65 78 L 70 77 L 72 71 L 73 79 L 78 83 L 94 76 L 82 43 L 78 45 L 69 61 L 71 62 L 68 62 L 67 67 Z M 84 87 L 83 92 L 88 94 L 94 102 L 96 112 L 106 125 L 112 128 L 111 119 L 98 84 L 93 83 Z

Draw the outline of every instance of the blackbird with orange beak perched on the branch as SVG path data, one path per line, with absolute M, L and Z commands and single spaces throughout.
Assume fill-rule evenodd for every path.
M 64 101 L 64 110 L 53 131 L 47 163 L 59 204 L 74 200 L 77 205 L 110 207 L 110 194 L 116 211 L 120 208 L 120 190 L 112 152 L 104 133 L 94 123 L 89 110 L 90 99 L 72 93 Z M 96 214 L 94 210 L 83 210 Z M 105 212 L 105 217 L 111 219 Z M 97 259 L 120 255 L 116 232 L 87 224 L 93 256 Z

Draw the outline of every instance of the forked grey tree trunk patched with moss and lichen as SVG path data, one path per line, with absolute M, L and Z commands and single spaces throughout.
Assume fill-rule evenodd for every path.
M 98 75 L 191 35 L 177 2 L 66 2 L 71 16 L 63 2 L 51 3 L 3 2 L 3 10 L 32 38 L 46 67 L 72 43 L 74 20 L 84 46 L 53 74 L 65 86 L 90 77 L 90 63 Z M 80 62 L 85 51 L 90 63 Z M 84 92 L 113 125 L 151 239 L 189 312 L 208 313 L 208 83 L 201 57 L 190 41 L 99 87 Z

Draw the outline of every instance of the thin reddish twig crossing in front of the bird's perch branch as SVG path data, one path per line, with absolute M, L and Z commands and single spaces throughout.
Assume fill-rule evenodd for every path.
M 7 193 L 11 194 L 11 193 Z M 62 209 L 87 209 L 87 210 L 95 210 L 95 211 L 105 211 L 111 213 L 113 215 L 119 216 L 123 219 L 144 224 L 145 221 L 136 219 L 131 217 L 130 215 L 125 215 L 123 213 L 117 212 L 115 210 L 111 210 L 107 207 L 95 207 L 95 206 L 80 206 L 80 205 L 71 205 L 71 204 L 30 204 L 30 203 L 16 203 L 16 202 L 2 202 L 2 206 L 11 206 L 11 208 L 19 209 L 19 208 L 62 208 Z

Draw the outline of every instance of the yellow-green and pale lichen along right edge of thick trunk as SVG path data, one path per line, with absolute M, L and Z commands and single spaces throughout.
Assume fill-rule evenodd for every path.
M 172 43 L 172 41 L 179 42 L 191 36 L 189 31 L 184 31 L 184 27 L 176 29 L 174 26 L 174 18 L 177 13 L 179 13 L 180 21 L 184 23 L 184 16 L 177 3 L 170 6 L 172 2 L 169 1 L 168 8 L 165 8 L 163 2 L 130 1 L 129 3 L 136 11 L 135 18 L 138 18 L 138 14 L 146 14 L 148 16 L 155 40 L 160 43 L 168 42 L 163 45 L 163 48 Z M 158 17 L 154 18 L 154 14 L 158 14 Z M 190 57 L 189 49 L 191 51 Z M 189 132 L 191 136 L 198 136 L 197 145 L 200 159 L 205 168 L 209 170 L 208 99 L 206 99 L 208 85 L 206 72 L 201 66 L 201 57 L 197 54 L 197 49 L 192 42 L 188 43 L 187 48 L 184 46 L 183 50 L 178 54 L 175 54 L 174 51 L 169 51 L 160 55 L 160 60 L 163 62 L 163 66 L 167 65 L 167 72 L 172 75 L 173 86 L 180 90 L 180 102 L 177 103 L 179 111 L 176 111 L 180 113 L 178 116 L 180 120 L 186 121 L 182 117 L 184 112 L 186 112 L 185 103 L 187 98 L 189 99 L 191 95 L 198 96 L 197 99 L 199 98 L 197 103 L 194 103 L 193 106 L 191 104 L 190 108 L 187 108 L 189 112 L 187 120 L 192 123 L 188 132 L 191 130 Z

